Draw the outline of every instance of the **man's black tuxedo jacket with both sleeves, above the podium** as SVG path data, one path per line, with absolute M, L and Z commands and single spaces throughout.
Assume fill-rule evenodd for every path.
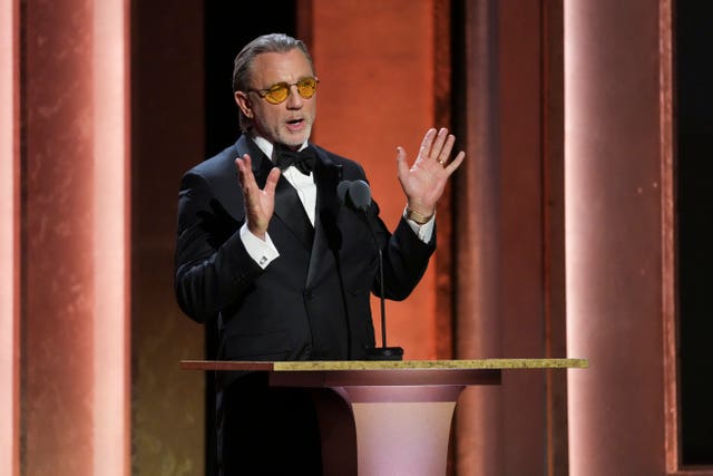
M 261 187 L 273 167 L 255 143 L 243 135 L 183 177 L 175 290 L 194 320 L 217 318 L 219 359 L 363 359 L 374 346 L 369 294 L 380 289 L 378 247 L 388 299 L 408 297 L 426 271 L 436 234 L 423 243 L 403 218 L 391 234 L 375 203 L 367 214 L 340 204 L 339 182 L 365 179 L 364 172 L 355 162 L 312 146 L 319 157 L 314 231 L 305 231 L 302 203 L 281 176 L 267 230 L 280 256 L 265 270 L 238 233 L 245 212 L 235 158 L 250 154 Z

